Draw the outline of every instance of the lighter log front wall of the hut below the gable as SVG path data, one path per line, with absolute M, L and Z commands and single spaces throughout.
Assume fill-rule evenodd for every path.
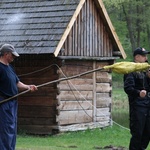
M 59 78 L 64 74 L 69 77 L 104 65 L 108 65 L 108 62 L 65 60 Z M 83 124 L 90 126 L 93 122 L 101 127 L 110 125 L 112 89 L 108 72 L 99 71 L 62 81 L 57 87 L 60 91 L 57 96 L 60 103 L 57 116 L 60 130 L 69 130 L 72 125 L 76 125 L 74 130 L 79 130 Z

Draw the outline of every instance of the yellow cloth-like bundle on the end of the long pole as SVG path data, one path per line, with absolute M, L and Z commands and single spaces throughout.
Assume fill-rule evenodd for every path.
M 128 74 L 136 71 L 144 71 L 150 68 L 148 63 L 135 63 L 135 62 L 118 62 L 113 65 L 104 66 L 104 69 L 111 69 L 113 72 L 120 74 Z

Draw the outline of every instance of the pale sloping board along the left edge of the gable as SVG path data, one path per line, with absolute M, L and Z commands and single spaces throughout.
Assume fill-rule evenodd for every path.
M 77 16 L 78 16 L 78 14 L 80 13 L 80 10 L 82 9 L 84 3 L 85 3 L 85 0 L 80 0 L 80 3 L 79 3 L 79 5 L 77 6 L 77 9 L 76 9 L 76 11 L 74 12 L 73 17 L 71 18 L 71 20 L 70 20 L 70 22 L 69 22 L 69 24 L 68 24 L 68 26 L 67 26 L 67 28 L 66 28 L 64 34 L 62 35 L 62 37 L 61 37 L 61 39 L 60 39 L 60 41 L 59 41 L 59 43 L 58 43 L 58 45 L 57 45 L 57 47 L 56 47 L 56 49 L 55 49 L 54 55 L 55 55 L 56 57 L 57 57 L 59 51 L 61 50 L 61 47 L 63 46 L 63 44 L 64 44 L 64 42 L 65 42 L 65 40 L 66 40 L 66 38 L 67 38 L 67 36 L 68 36 L 68 34 L 69 34 L 71 28 L 72 28 L 74 22 L 76 21 Z

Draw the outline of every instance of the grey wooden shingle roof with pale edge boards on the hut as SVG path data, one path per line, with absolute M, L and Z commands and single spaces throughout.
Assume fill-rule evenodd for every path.
M 106 10 L 101 0 L 102 14 Z M 11 43 L 19 54 L 59 54 L 61 47 L 86 0 L 1 0 L 0 41 Z M 112 25 L 104 15 L 110 32 Z M 112 33 L 123 58 L 126 57 L 115 33 Z

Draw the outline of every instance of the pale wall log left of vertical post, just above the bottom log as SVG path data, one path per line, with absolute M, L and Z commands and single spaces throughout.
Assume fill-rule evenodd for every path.
M 57 121 L 60 125 L 91 122 L 92 110 L 60 111 L 60 115 L 58 116 Z

